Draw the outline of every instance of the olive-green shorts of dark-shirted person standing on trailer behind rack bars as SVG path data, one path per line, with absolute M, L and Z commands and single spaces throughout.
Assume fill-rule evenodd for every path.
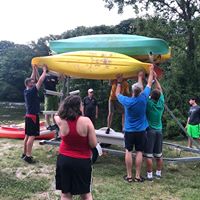
M 44 110 L 45 111 L 57 111 L 58 110 L 58 97 L 57 96 L 45 96 L 44 98 Z

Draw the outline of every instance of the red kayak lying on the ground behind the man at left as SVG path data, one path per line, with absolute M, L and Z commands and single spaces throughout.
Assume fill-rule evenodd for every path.
M 25 130 L 23 125 L 5 125 L 0 126 L 0 138 L 11 139 L 24 139 Z M 44 122 L 40 123 L 40 136 L 36 139 L 48 140 L 55 137 L 55 131 L 49 131 L 46 129 Z

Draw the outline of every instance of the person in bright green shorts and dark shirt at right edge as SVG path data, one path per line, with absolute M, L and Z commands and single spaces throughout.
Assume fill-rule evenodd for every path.
M 192 97 L 189 100 L 191 105 L 189 117 L 187 120 L 187 133 L 191 138 L 200 139 L 200 106 L 197 105 L 197 98 Z M 192 147 L 192 140 L 188 137 L 188 147 Z

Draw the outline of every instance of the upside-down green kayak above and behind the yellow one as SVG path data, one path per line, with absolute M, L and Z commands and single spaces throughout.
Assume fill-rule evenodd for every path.
M 50 49 L 54 53 L 95 50 L 116 52 L 128 56 L 169 53 L 169 46 L 162 39 L 128 34 L 86 35 L 54 40 L 50 41 Z

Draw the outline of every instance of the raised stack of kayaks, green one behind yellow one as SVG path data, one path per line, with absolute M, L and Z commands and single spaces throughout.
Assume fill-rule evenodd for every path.
M 49 70 L 67 76 L 108 80 L 117 74 L 135 77 L 140 70 L 149 72 L 151 62 L 171 57 L 167 43 L 158 38 L 138 35 L 88 35 L 50 42 L 53 56 L 33 58 L 32 64 L 46 64 Z

